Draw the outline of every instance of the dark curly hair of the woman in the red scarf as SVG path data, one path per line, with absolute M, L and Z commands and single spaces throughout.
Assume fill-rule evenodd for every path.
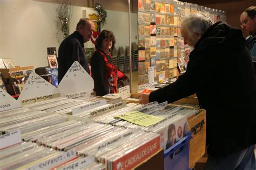
M 116 39 L 114 38 L 114 34 L 112 31 L 109 30 L 103 30 L 99 33 L 99 36 L 96 39 L 95 47 L 96 49 L 100 49 L 102 47 L 102 42 L 104 39 L 112 40 L 112 47 L 111 51 L 114 48 L 114 44 L 116 43 Z

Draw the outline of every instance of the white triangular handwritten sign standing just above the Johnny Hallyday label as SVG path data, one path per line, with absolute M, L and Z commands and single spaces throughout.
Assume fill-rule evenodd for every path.
M 56 87 L 52 86 L 52 84 L 44 80 L 35 72 L 32 72 L 29 76 L 28 81 L 26 81 L 22 89 L 18 101 L 21 102 L 29 98 L 47 96 L 52 94 L 60 94 L 60 96 L 64 96 L 64 94 L 61 91 L 59 91 Z

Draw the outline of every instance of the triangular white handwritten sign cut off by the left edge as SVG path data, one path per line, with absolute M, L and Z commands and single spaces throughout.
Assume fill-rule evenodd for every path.
M 5 90 L 0 88 L 0 111 L 16 109 L 21 107 L 21 102 L 15 100 Z

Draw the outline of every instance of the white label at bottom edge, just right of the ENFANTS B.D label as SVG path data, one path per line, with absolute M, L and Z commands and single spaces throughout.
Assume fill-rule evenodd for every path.
M 71 169 L 81 169 L 95 162 L 95 157 L 93 155 L 79 158 L 77 161 L 72 162 L 72 164 L 68 164 L 66 166 L 62 166 L 62 170 L 71 170 Z

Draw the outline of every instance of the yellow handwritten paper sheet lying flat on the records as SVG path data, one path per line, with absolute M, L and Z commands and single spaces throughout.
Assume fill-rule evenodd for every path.
M 140 126 L 150 126 L 163 120 L 161 117 L 147 115 L 139 111 L 132 111 L 124 115 L 119 115 L 117 118 L 124 119 L 127 122 L 131 122 Z

